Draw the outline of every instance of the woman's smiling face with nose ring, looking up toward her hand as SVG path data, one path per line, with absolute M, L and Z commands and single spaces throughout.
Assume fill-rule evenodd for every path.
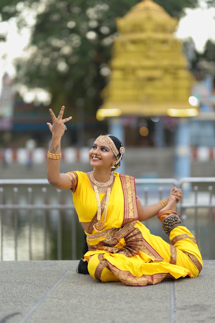
M 89 151 L 89 160 L 92 167 L 111 168 L 113 162 L 116 162 L 117 159 L 106 140 L 103 143 L 99 140 L 95 141 Z

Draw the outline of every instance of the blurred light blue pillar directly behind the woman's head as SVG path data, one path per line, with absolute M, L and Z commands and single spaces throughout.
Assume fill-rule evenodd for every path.
M 112 117 L 108 119 L 108 133 L 111 135 L 117 137 L 120 141 L 122 141 L 123 147 L 125 148 L 125 131 L 122 124 L 122 118 L 121 117 Z M 126 154 L 126 150 L 125 150 Z M 121 174 L 125 173 L 125 160 L 122 157 L 122 160 L 120 161 L 120 167 L 116 170 L 116 172 L 119 172 Z

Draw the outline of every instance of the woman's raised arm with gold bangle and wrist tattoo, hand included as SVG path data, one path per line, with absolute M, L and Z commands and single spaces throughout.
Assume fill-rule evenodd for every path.
M 64 106 L 61 108 L 59 116 L 56 118 L 52 109 L 49 109 L 52 117 L 53 124 L 47 122 L 50 131 L 52 132 L 52 141 L 50 145 L 49 156 L 47 158 L 47 179 L 50 184 L 60 190 L 68 190 L 71 188 L 72 183 L 70 178 L 60 173 L 60 148 L 61 148 L 61 137 L 64 135 L 64 131 L 67 129 L 65 122 L 72 119 L 72 117 L 65 118 L 62 120 L 64 113 Z M 57 159 L 59 158 L 59 159 Z

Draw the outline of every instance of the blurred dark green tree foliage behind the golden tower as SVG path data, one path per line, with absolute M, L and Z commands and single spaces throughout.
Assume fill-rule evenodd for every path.
M 111 45 L 117 35 L 115 18 L 138 2 L 1 0 L 3 21 L 13 17 L 20 30 L 26 26 L 32 29 L 28 57 L 17 61 L 16 82 L 47 89 L 54 110 L 64 104 L 75 119 L 74 107 L 83 104 L 85 116 L 94 118 L 110 72 Z M 198 5 L 198 0 L 155 2 L 177 17 L 183 15 L 185 7 Z

